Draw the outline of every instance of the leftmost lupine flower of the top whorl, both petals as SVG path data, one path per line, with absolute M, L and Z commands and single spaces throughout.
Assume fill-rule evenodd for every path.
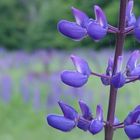
M 74 7 L 72 8 L 72 13 L 76 22 L 61 20 L 58 23 L 58 30 L 63 35 L 79 41 L 87 35 L 86 27 L 88 25 L 89 18 L 84 12 Z

